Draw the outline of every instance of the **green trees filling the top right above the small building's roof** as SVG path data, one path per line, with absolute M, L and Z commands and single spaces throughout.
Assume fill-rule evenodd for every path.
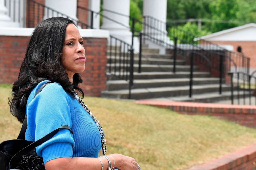
M 184 24 L 185 19 L 202 19 L 202 30 L 218 32 L 256 22 L 252 0 L 167 0 L 167 21 Z M 178 21 L 175 21 L 178 20 Z

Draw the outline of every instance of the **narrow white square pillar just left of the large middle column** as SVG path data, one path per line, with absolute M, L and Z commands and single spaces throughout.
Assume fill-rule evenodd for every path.
M 88 8 L 95 12 L 100 12 L 100 0 L 89 0 Z M 89 25 L 91 24 L 91 12 L 88 12 Z M 100 15 L 93 14 L 93 28 L 100 28 Z

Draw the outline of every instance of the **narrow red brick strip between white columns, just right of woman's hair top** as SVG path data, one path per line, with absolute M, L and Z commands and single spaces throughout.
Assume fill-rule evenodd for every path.
M 77 6 L 88 8 L 88 0 L 77 0 Z M 77 8 L 77 18 L 81 22 L 87 24 L 88 23 L 88 11 Z M 81 25 L 81 26 L 82 26 L 82 28 L 85 28 L 85 26 L 83 26 L 83 25 Z

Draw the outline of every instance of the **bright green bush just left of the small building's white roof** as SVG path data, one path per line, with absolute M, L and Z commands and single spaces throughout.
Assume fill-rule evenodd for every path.
M 211 32 L 204 30 L 198 30 L 197 24 L 191 22 L 187 22 L 186 24 L 179 25 L 177 27 L 170 27 L 168 29 L 168 36 L 171 40 L 174 40 L 174 37 L 177 37 L 177 43 L 194 43 L 194 38 L 201 37 L 210 33 Z

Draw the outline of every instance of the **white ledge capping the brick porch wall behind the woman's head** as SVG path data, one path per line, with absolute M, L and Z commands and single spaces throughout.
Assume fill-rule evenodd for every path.
M 31 36 L 34 28 L 0 27 L 0 36 Z M 108 38 L 109 31 L 102 29 L 79 29 L 81 37 Z

